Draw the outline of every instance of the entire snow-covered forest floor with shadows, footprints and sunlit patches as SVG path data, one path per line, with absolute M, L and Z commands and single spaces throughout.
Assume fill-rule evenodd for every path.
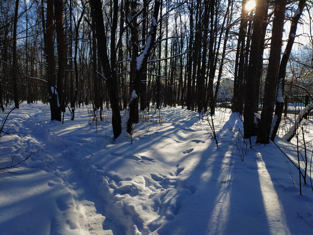
M 313 234 L 310 166 L 300 195 L 295 167 L 273 143 L 246 150 L 229 109 L 214 117 L 218 148 L 212 123 L 181 107 L 141 113 L 132 144 L 125 130 L 113 141 L 109 111 L 97 125 L 88 113 L 67 112 L 64 124 L 41 103 L 10 114 L 0 168 L 37 150 L 26 163 L 42 167 L 0 173 L 1 235 Z M 295 140 L 276 143 L 297 159 Z

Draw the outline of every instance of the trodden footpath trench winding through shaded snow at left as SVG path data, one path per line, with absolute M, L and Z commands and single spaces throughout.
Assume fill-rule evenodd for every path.
M 30 135 L 32 141 L 29 141 L 48 144 L 49 148 L 40 152 L 41 156 L 45 156 L 49 162 L 53 162 L 52 165 L 46 167 L 46 171 L 59 177 L 63 185 L 68 187 L 71 192 L 68 198 L 63 197 L 56 201 L 60 211 L 66 211 L 68 200 L 73 198 L 77 213 L 80 214 L 79 217 L 85 219 L 84 224 L 80 226 L 85 227 L 86 231 L 90 234 L 122 235 L 121 228 L 104 216 L 105 202 L 92 192 L 82 177 L 79 167 L 83 157 L 103 147 L 103 137 L 85 133 L 84 129 L 81 128 L 80 121 L 85 122 L 86 120 L 79 120 L 79 114 L 74 122 L 68 120 L 62 125 L 56 121 L 47 122 L 46 119 L 49 118 L 47 112 L 47 107 L 45 107 L 42 112 L 36 113 L 31 120 L 22 120 L 20 125 L 29 130 L 36 130 L 36 133 L 42 133 Z M 80 136 L 76 136 L 77 131 L 74 131 L 77 128 L 81 129 Z M 70 134 L 71 131 L 74 131 L 73 135 Z M 91 137 L 89 137 L 90 134 Z M 40 161 L 37 162 L 40 163 Z M 74 228 L 71 222 L 69 222 L 69 226 L 71 229 Z

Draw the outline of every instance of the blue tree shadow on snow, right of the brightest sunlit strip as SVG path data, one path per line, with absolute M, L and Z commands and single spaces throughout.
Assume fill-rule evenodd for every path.
M 264 185 L 264 190 L 271 190 L 275 197 L 276 212 L 272 214 L 272 221 L 285 220 L 286 232 L 284 234 L 310 234 L 312 227 L 297 215 L 299 212 L 304 219 L 313 224 L 313 219 L 310 212 L 313 210 L 312 205 L 312 190 L 310 185 L 302 185 L 302 193 L 299 193 L 299 173 L 294 168 L 288 166 L 283 154 L 272 144 L 266 148 L 256 149 L 258 154 L 262 156 L 261 164 L 263 164 L 263 175 L 267 177 L 267 185 Z M 294 154 L 290 152 L 290 154 Z M 295 156 L 296 157 L 296 154 Z M 295 185 L 292 184 L 292 177 Z M 309 177 L 307 179 L 309 181 Z M 303 183 L 303 182 L 302 182 Z M 269 201 L 269 199 L 267 199 Z M 269 202 L 270 203 L 270 202 Z M 270 211 L 270 210 L 269 210 Z M 283 230 L 282 230 L 283 231 Z

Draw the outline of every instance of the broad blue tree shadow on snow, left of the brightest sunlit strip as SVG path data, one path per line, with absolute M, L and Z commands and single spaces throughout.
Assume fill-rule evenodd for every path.
M 240 120 L 232 115 L 225 127 Z M 263 204 L 256 159 L 245 162 L 213 141 L 198 154 L 197 165 L 185 185 L 196 191 L 159 234 L 270 234 Z M 196 157 L 196 156 L 194 156 Z M 189 157 L 189 162 L 192 156 Z M 192 217 L 190 217 L 192 215 Z

